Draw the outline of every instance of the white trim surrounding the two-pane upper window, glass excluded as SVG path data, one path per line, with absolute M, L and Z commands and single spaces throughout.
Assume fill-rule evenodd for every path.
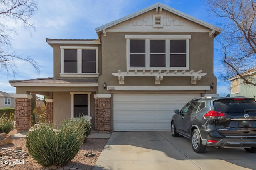
M 64 73 L 64 49 L 77 49 L 77 73 Z M 95 73 L 82 73 L 82 50 L 95 49 L 96 53 L 96 72 Z M 61 77 L 98 77 L 98 49 L 99 47 L 92 46 L 60 46 L 60 76 Z

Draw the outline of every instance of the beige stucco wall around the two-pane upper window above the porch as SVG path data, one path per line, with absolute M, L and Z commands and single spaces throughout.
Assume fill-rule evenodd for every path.
M 101 63 L 101 45 L 100 44 L 52 44 L 53 46 L 53 76 L 60 77 L 61 60 L 60 60 L 60 46 L 92 46 L 99 47 L 98 49 L 98 63 Z M 98 71 L 101 74 L 101 64 L 98 64 Z

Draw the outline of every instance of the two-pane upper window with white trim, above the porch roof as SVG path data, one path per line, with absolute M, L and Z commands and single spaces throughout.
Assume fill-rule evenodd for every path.
M 61 76 L 98 77 L 98 47 L 61 46 Z

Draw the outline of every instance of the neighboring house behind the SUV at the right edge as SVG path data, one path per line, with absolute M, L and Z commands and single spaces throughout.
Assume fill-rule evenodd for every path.
M 245 76 L 246 78 L 250 76 L 250 82 L 256 84 L 256 68 L 242 73 L 242 76 Z M 231 85 L 230 96 L 245 96 L 249 98 L 256 98 L 256 86 L 253 86 L 252 84 L 246 84 L 244 80 L 239 76 L 234 76 L 228 79 L 228 81 L 230 81 Z

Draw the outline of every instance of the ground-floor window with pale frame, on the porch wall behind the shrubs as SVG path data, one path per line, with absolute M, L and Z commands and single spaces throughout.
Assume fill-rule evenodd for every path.
M 90 92 L 70 92 L 72 118 L 90 115 Z

